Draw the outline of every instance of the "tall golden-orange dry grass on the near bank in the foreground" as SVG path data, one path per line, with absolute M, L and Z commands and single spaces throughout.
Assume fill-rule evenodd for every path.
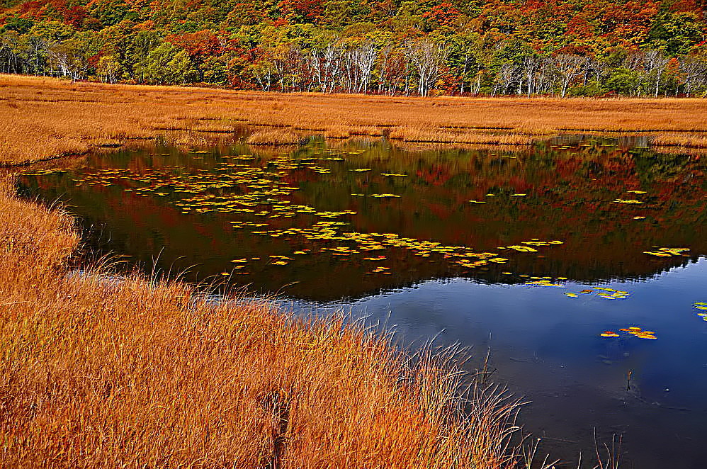
M 502 468 L 514 407 L 361 324 L 67 270 L 72 220 L 0 181 L 3 468 Z M 465 409 L 467 412 L 463 412 Z

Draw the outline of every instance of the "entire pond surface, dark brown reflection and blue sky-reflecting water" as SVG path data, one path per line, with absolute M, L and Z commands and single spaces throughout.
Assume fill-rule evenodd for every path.
M 600 445 L 623 435 L 622 467 L 703 468 L 707 164 L 644 144 L 153 146 L 33 171 L 20 188 L 68 203 L 96 249 L 133 262 L 307 312 L 344 307 L 407 343 L 436 336 L 481 358 L 490 346 L 493 380 L 532 401 L 521 422 L 575 461 L 564 467 L 579 452 L 594 465 L 596 429 Z M 645 254 L 660 248 L 689 251 Z

